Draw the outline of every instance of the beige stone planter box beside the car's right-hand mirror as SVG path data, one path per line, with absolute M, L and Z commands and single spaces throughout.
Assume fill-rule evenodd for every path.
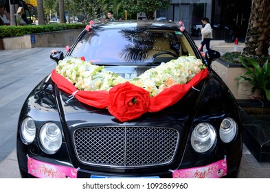
M 238 84 L 236 77 L 247 72 L 242 64 L 226 62 L 219 58 L 212 62 L 211 67 L 225 82 L 236 99 L 250 99 L 250 96 L 260 95 L 259 91 L 256 91 L 253 94 L 251 93 L 252 86 Z

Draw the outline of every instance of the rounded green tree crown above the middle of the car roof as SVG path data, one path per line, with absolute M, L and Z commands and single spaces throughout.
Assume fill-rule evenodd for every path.
M 154 19 L 154 12 L 159 8 L 168 8 L 170 0 L 122 0 L 124 10 L 132 14 L 144 12 L 146 18 Z

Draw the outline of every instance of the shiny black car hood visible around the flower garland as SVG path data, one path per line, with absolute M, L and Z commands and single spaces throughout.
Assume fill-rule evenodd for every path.
M 126 79 L 137 77 L 149 67 L 107 67 L 108 70 L 118 73 Z M 177 121 L 183 123 L 188 119 L 193 118 L 196 108 L 203 95 L 203 89 L 207 78 L 202 80 L 194 88 L 191 88 L 183 98 L 181 98 L 173 106 L 164 108 L 159 112 L 146 112 L 141 117 L 126 121 L 122 123 L 117 118 L 110 114 L 109 110 L 98 109 L 87 104 L 83 104 L 76 98 L 72 98 L 72 95 L 57 89 L 56 95 L 59 95 L 58 104 L 60 115 L 65 118 L 67 126 L 82 126 L 82 125 L 114 125 L 114 124 L 132 124 L 132 125 L 149 125 L 157 123 L 162 125 L 164 123 L 176 123 Z M 71 99 L 72 98 L 72 99 Z

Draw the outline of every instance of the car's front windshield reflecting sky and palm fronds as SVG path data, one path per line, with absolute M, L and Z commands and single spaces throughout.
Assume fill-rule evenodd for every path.
M 160 64 L 194 56 L 181 32 L 162 29 L 94 29 L 78 41 L 70 56 L 94 64 Z

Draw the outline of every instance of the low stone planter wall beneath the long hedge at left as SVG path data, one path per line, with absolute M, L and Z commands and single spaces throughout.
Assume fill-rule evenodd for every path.
M 71 46 L 82 30 L 83 29 L 71 29 L 58 32 L 2 38 L 3 49 L 30 49 L 34 47 Z

